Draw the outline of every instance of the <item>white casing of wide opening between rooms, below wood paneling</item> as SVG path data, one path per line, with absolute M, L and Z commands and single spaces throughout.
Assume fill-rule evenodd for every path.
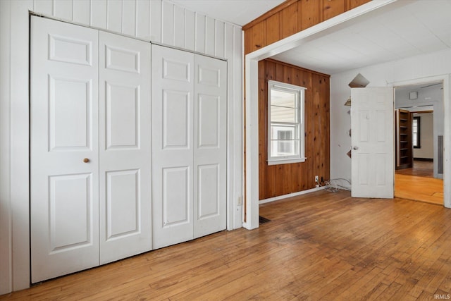
M 362 6 L 342 13 L 334 18 L 297 32 L 295 35 L 281 39 L 245 56 L 245 191 L 246 215 L 243 226 L 247 229 L 259 227 L 259 61 L 298 47 L 307 39 L 321 37 L 333 32 L 334 27 L 365 13 L 376 10 L 397 0 L 369 1 Z M 445 145 L 446 146 L 446 145 Z

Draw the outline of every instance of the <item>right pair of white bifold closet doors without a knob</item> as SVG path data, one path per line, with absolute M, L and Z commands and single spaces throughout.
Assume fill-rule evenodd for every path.
M 226 228 L 226 69 L 152 45 L 154 248 Z

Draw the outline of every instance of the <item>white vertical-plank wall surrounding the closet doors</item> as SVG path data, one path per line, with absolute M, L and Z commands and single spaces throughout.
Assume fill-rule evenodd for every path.
M 242 226 L 242 28 L 167 0 L 0 1 L 0 295 L 30 285 L 29 11 L 228 61 L 228 229 Z

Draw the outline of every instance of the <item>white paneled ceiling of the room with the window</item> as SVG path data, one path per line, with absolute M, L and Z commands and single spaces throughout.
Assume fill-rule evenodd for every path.
M 335 74 L 451 47 L 451 1 L 397 2 L 273 59 Z

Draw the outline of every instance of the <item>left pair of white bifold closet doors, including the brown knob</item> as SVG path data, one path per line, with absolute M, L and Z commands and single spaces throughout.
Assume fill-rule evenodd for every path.
M 152 250 L 150 44 L 32 17 L 32 283 Z

